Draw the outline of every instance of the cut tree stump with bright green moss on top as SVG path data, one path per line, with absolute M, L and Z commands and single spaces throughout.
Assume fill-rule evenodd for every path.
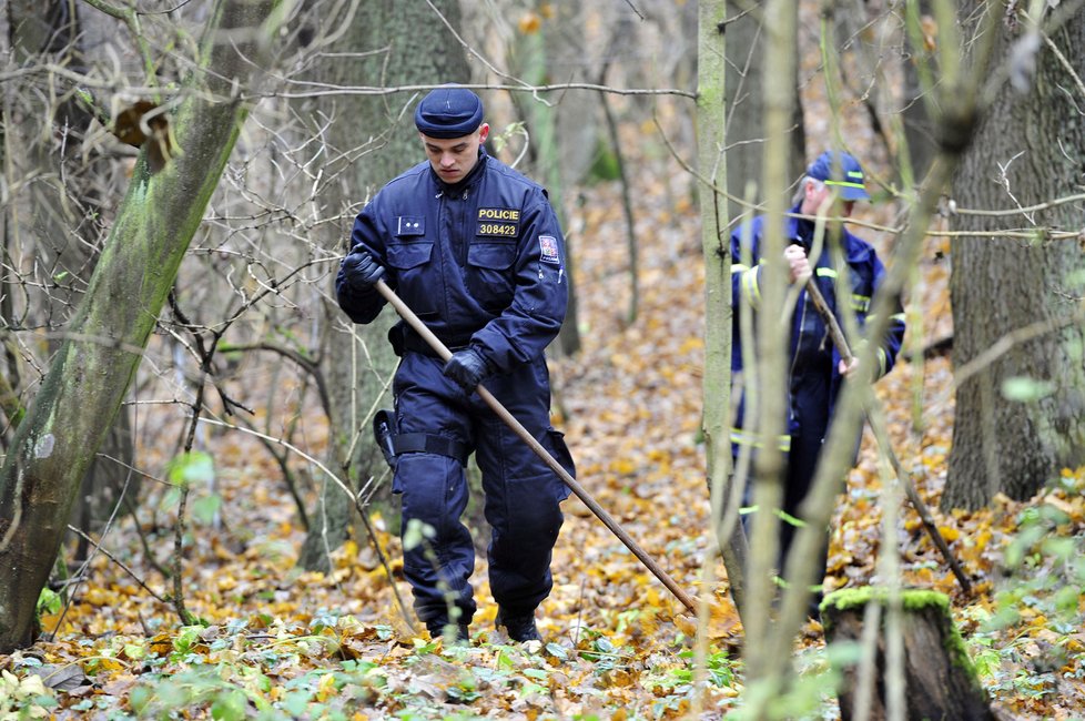
M 836 591 L 825 599 L 822 618 L 828 643 L 861 643 L 864 636 L 872 637 L 873 633 L 864 634 L 866 613 L 871 610 L 871 603 L 881 607 L 873 609 L 881 619 L 871 649 L 873 656 L 864 659 L 864 663 L 871 664 L 865 670 L 873 673 L 873 682 L 865 689 L 860 688 L 863 686 L 860 679 L 864 670 L 861 666 L 839 669 L 843 677 L 838 692 L 843 721 L 855 718 L 881 721 L 890 718 L 886 712 L 890 705 L 886 703 L 886 687 L 893 680 L 886 678 L 889 663 L 884 619 L 890 612 L 886 599 L 885 593 L 872 588 Z M 903 718 L 910 721 L 994 719 L 986 693 L 976 680 L 964 649 L 964 641 L 950 618 L 949 607 L 949 599 L 935 591 L 901 593 L 900 628 L 904 648 L 904 699 L 907 704 Z M 866 715 L 856 713 L 860 709 L 865 709 Z

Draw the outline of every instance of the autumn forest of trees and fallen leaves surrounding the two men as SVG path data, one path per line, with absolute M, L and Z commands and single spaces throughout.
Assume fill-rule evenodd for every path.
M 834 146 L 873 179 L 853 230 L 909 270 L 907 349 L 876 392 L 973 589 L 869 435 L 833 504 L 828 581 L 947 593 L 1000 713 L 1081 718 L 1085 18 L 961 6 L 9 1 L 0 712 L 835 718 L 830 660 L 854 650 L 819 624 L 785 639 L 787 693 L 747 667 L 704 420 L 730 326 L 706 293 L 713 243 L 750 212 L 748 182 L 782 199 Z M 724 17 L 713 154 L 706 49 Z M 781 78 L 794 104 L 772 94 Z M 579 478 L 701 618 L 576 500 L 541 648 L 493 629 L 484 555 L 473 647 L 402 612 L 368 433 L 387 326 L 349 327 L 331 280 L 366 199 L 422 160 L 413 104 L 447 80 L 479 88 L 494 152 L 562 215 L 576 302 L 551 375 Z

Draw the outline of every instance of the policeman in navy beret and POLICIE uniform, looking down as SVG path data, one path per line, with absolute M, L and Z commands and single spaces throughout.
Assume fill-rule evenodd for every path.
M 464 467 L 475 453 L 493 534 L 489 582 L 497 624 L 515 641 L 539 639 L 535 610 L 552 586 L 561 528 L 560 478 L 474 393 L 486 388 L 575 474 L 549 420 L 544 349 L 568 303 L 565 241 L 546 191 L 486 153 L 481 100 L 443 85 L 418 104 L 428 160 L 385 185 L 358 214 L 336 277 L 339 306 L 369 323 L 385 304 L 383 278 L 452 351 L 444 363 L 402 321 L 389 339 L 400 356 L 393 384 L 396 466 L 404 532 L 432 538 L 404 549 L 415 611 L 430 636 L 468 639 L 476 610 L 475 551 L 460 522 Z

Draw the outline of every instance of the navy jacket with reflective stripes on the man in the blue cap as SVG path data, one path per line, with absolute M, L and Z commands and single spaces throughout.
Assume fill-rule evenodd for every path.
M 798 214 L 799 207 L 791 213 Z M 761 301 L 761 241 L 764 216 L 754 217 L 749 229 L 740 227 L 731 235 L 731 305 L 733 314 L 733 334 L 731 345 L 732 378 L 739 379 L 742 373 L 742 336 L 739 332 L 739 305 L 750 304 L 756 311 Z M 787 217 L 784 220 L 784 242 L 801 243 L 807 252 L 813 238 L 813 222 Z M 741 244 L 743 236 L 749 237 L 750 248 L 743 253 Z M 855 314 L 859 327 L 863 328 L 870 319 L 871 301 L 885 275 L 885 268 L 879 260 L 873 246 L 866 241 L 853 235 L 846 229 L 841 229 L 841 248 L 845 258 L 848 276 L 851 281 L 851 295 L 845 298 L 851 311 Z M 836 297 L 836 277 L 839 270 L 833 267 L 828 242 L 812 268 L 818 288 L 825 297 L 833 315 L 841 322 L 842 305 Z M 749 258 L 749 260 L 747 260 Z M 889 373 L 896 363 L 904 338 L 904 313 L 898 301 L 895 312 L 890 318 L 885 337 L 881 338 L 876 348 L 878 367 L 873 370 L 872 379 L 878 379 Z M 856 343 L 851 342 L 854 346 Z M 791 323 L 788 365 L 788 426 L 787 435 L 780 439 L 782 449 L 788 450 L 790 439 L 799 434 L 820 434 L 823 438 L 832 419 L 834 404 L 841 387 L 839 372 L 840 354 L 829 337 L 824 319 L 818 313 L 813 303 L 808 299 L 805 291 L 799 295 L 798 304 Z M 731 428 L 731 443 L 737 453 L 739 445 L 752 444 L 756 438 L 743 433 L 743 415 L 746 397 L 756 389 L 743 388 L 743 397 Z M 813 427 L 804 427 L 813 426 Z

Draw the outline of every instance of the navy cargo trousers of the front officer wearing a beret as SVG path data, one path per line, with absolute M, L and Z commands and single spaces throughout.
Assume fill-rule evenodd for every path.
M 466 444 L 483 475 L 484 512 L 494 600 L 508 616 L 533 612 L 552 588 L 550 557 L 561 528 L 560 501 L 568 487 L 476 394 L 468 397 L 442 374 L 444 362 L 404 355 L 393 393 L 398 433 L 425 433 Z M 550 385 L 542 358 L 484 382 L 486 388 L 575 475 L 560 434 L 550 427 Z M 404 536 L 412 521 L 432 537 L 404 548 L 404 575 L 424 621 L 469 623 L 477 605 L 469 582 L 475 569 L 470 531 L 460 522 L 468 489 L 459 460 L 430 453 L 398 458 L 393 489 L 403 495 Z

